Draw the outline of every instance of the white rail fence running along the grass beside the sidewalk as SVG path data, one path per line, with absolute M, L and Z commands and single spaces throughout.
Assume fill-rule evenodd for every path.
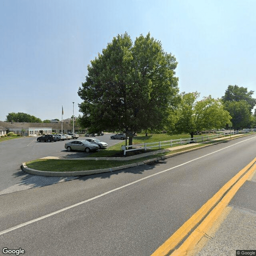
M 159 142 L 145 142 L 142 144 L 134 144 L 134 145 L 122 145 L 121 149 L 124 150 L 124 156 L 126 155 L 126 152 L 128 151 L 134 151 L 134 150 L 147 150 L 147 148 L 161 148 L 163 146 L 169 146 L 170 148 L 174 145 L 184 145 L 184 144 L 190 144 L 190 142 L 202 142 L 207 140 L 212 140 L 214 138 L 219 138 L 222 136 L 232 135 L 232 134 L 238 134 L 238 131 L 234 132 L 222 132 L 218 134 L 212 134 L 212 135 L 206 135 L 206 136 L 196 136 L 194 138 L 184 138 L 184 139 L 178 139 L 178 140 L 165 140 L 165 141 L 159 141 Z M 127 149 L 131 148 L 132 149 Z M 134 148 L 135 147 L 135 148 Z

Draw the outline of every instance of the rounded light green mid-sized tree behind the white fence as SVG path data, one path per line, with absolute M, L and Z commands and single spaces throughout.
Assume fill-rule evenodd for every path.
M 231 116 L 221 100 L 208 96 L 197 101 L 199 96 L 198 92 L 181 94 L 178 109 L 170 112 L 168 118 L 169 134 L 189 133 L 193 138 L 199 131 L 221 128 L 230 122 Z

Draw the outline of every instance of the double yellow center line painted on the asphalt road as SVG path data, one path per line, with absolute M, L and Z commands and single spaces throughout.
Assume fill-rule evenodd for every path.
M 220 217 L 238 189 L 246 180 L 252 178 L 256 170 L 255 163 L 256 158 L 228 181 L 151 256 L 187 255 Z

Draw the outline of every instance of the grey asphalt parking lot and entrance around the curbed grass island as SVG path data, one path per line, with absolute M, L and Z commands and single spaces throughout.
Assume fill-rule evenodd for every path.
M 112 146 L 119 143 L 121 140 L 111 140 L 112 134 L 104 134 L 103 136 L 96 136 L 98 138 Z M 72 151 L 68 152 L 64 148 L 66 141 L 58 142 L 37 142 L 37 137 L 25 137 L 15 138 L 13 140 L 7 140 L 0 143 L 0 194 L 12 191 L 12 187 L 15 186 L 15 190 L 23 189 L 22 184 L 31 182 L 31 187 L 42 186 L 42 184 L 55 183 L 57 180 L 61 181 L 63 178 L 47 178 L 37 177 L 34 175 L 27 174 L 20 170 L 20 166 L 23 162 L 28 162 L 37 158 L 46 156 L 70 156 L 70 157 L 83 157 L 90 153 Z M 85 140 L 90 137 L 79 137 L 78 140 Z M 123 141 L 125 144 L 125 141 Z M 32 179 L 31 179 L 32 178 Z M 65 178 L 68 180 L 72 178 Z M 31 180 L 31 181 L 30 181 Z

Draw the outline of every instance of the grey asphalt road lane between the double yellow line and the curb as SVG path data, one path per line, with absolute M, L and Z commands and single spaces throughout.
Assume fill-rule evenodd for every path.
M 155 164 L 1 195 L 0 232 L 6 231 L 0 246 L 25 255 L 149 256 L 255 158 L 255 145 L 252 135 Z

